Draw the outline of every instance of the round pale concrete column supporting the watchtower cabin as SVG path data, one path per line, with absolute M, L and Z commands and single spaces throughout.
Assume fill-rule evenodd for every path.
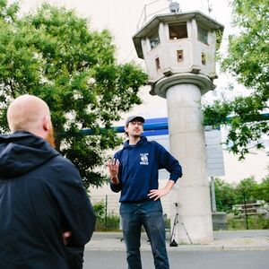
M 176 214 L 175 203 L 178 203 L 179 223 L 175 239 L 179 243 L 189 244 L 188 233 L 193 243 L 204 244 L 213 240 L 213 224 L 206 172 L 201 91 L 195 84 L 182 83 L 169 87 L 166 98 L 170 152 L 178 158 L 183 168 L 183 178 L 178 179 L 170 195 L 172 216 Z

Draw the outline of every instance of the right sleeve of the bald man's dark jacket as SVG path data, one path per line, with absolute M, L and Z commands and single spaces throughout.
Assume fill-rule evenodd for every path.
M 57 178 L 52 180 L 52 191 L 63 221 L 63 230 L 72 232 L 68 246 L 84 246 L 91 239 L 96 221 L 90 199 L 71 161 L 57 161 L 55 169 Z

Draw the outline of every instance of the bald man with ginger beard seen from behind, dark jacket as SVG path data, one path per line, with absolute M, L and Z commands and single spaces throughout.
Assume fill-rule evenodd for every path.
M 82 268 L 95 216 L 71 161 L 54 149 L 48 105 L 32 95 L 7 109 L 0 135 L 0 268 Z

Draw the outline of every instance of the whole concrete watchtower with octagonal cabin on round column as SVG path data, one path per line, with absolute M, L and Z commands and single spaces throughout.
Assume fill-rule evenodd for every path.
M 171 192 L 171 213 L 194 243 L 213 239 L 209 181 L 206 174 L 201 96 L 213 90 L 215 54 L 223 26 L 200 12 L 155 16 L 133 37 L 144 59 L 150 93 L 167 99 L 171 153 L 183 166 L 183 178 Z M 174 214 L 173 214 L 174 213 Z M 177 225 L 176 239 L 189 243 Z

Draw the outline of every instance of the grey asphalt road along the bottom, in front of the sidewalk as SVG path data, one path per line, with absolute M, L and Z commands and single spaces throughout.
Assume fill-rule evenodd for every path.
M 152 253 L 142 252 L 143 269 L 154 269 Z M 170 269 L 269 269 L 268 250 L 169 252 Z M 126 269 L 123 251 L 86 250 L 83 269 Z

